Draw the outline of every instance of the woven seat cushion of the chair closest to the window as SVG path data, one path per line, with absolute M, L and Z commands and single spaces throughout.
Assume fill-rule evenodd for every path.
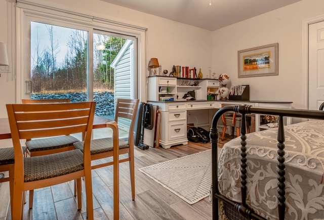
M 65 148 L 66 146 L 73 145 L 73 143 L 77 141 L 80 140 L 71 135 L 64 135 L 28 140 L 26 141 L 26 146 L 30 152 L 36 152 Z

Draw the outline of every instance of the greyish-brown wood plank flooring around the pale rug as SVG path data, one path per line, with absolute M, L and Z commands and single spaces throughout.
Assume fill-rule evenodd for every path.
M 220 144 L 230 139 L 226 137 Z M 211 149 L 211 144 L 189 142 L 188 145 L 173 146 L 170 149 L 150 148 L 142 151 L 135 148 L 135 187 L 136 198 L 132 201 L 129 163 L 121 163 L 119 169 L 120 210 L 119 219 L 211 219 L 212 211 L 209 198 L 189 205 L 138 168 L 176 159 L 200 151 Z M 92 171 L 94 217 L 95 219 L 113 219 L 113 182 L 112 166 Z M 34 191 L 33 208 L 24 205 L 24 219 L 85 219 L 86 196 L 83 190 L 83 205 L 77 210 L 73 196 L 73 181 Z M 9 183 L 0 184 L 0 220 L 11 219 L 9 210 Z M 8 211 L 9 210 L 9 211 Z

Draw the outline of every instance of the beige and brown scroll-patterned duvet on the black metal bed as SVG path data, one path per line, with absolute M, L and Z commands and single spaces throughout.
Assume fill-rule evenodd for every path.
M 324 219 L 324 122 L 285 126 L 286 217 Z M 277 219 L 277 128 L 247 134 L 247 204 Z M 218 164 L 218 188 L 240 202 L 240 137 L 227 142 Z

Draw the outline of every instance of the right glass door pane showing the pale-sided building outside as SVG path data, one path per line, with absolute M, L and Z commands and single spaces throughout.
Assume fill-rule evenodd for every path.
M 93 34 L 93 100 L 101 117 L 114 119 L 116 98 L 134 98 L 133 44 L 108 32 Z

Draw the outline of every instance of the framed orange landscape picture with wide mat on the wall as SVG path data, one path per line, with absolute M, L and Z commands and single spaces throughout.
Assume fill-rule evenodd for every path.
M 278 43 L 237 51 L 238 78 L 278 75 Z

